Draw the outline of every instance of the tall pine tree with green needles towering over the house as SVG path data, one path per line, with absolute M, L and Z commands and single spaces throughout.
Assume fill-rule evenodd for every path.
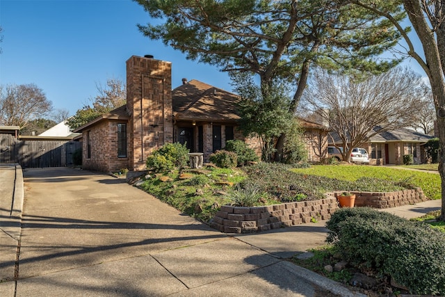
M 296 87 L 286 106 L 291 113 L 296 111 L 313 65 L 340 72 L 380 73 L 398 63 L 377 58 L 400 38 L 394 24 L 348 1 L 136 1 L 160 20 L 139 24 L 140 31 L 179 49 L 187 58 L 223 71 L 255 74 L 264 91 L 273 79 L 293 82 Z M 405 17 L 393 1 L 387 1 L 386 7 L 396 12 L 396 20 Z M 279 137 L 277 150 L 283 145 L 284 138 Z

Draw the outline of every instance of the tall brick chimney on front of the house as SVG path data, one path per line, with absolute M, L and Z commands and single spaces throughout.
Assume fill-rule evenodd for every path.
M 129 169 L 145 169 L 149 154 L 173 142 L 172 63 L 152 56 L 127 61 Z

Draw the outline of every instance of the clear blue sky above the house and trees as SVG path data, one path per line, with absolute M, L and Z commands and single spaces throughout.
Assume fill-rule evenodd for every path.
M 0 84 L 35 83 L 54 109 L 73 115 L 97 83 L 125 81 L 129 57 L 152 54 L 172 62 L 172 88 L 186 77 L 232 90 L 227 73 L 144 37 L 136 24 L 149 20 L 131 0 L 0 0 Z M 415 61 L 404 64 L 424 75 Z

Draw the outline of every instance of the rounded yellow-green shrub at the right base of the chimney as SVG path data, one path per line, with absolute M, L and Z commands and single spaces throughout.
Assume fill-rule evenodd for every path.
M 182 168 L 188 163 L 188 148 L 181 143 L 166 143 L 147 157 L 147 168 L 156 172 Z

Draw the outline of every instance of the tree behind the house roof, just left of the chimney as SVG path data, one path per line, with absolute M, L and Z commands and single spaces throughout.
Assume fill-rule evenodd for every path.
M 107 79 L 106 86 L 96 85 L 98 94 L 90 99 L 91 105 L 86 104 L 67 119 L 67 125 L 76 129 L 94 120 L 104 113 L 117 109 L 127 102 L 127 90 L 119 79 Z

